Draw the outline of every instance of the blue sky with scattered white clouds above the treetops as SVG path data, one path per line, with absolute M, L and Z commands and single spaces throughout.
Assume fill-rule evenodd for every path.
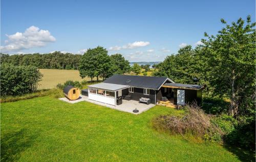
M 1 0 L 1 52 L 83 54 L 103 46 L 130 62 L 163 61 L 204 32 L 255 21 L 255 1 L 28 1 Z

